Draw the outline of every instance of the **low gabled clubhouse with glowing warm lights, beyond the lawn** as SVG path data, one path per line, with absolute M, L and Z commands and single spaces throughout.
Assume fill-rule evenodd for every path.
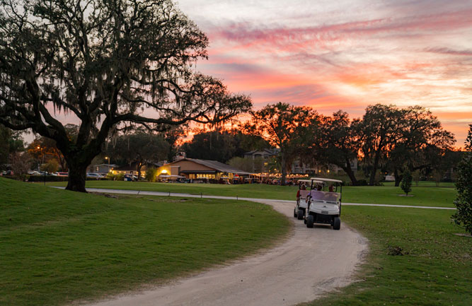
M 248 177 L 249 175 L 251 173 L 215 160 L 193 158 L 181 158 L 157 169 L 158 179 L 166 178 L 170 180 L 185 177 L 189 180 L 201 180 L 202 182 L 221 182 L 221 180 L 232 181 L 239 177 Z

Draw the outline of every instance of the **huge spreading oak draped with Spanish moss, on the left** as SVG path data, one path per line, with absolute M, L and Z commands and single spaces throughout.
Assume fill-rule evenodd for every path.
M 56 141 L 66 188 L 86 192 L 110 131 L 216 124 L 251 108 L 195 72 L 207 45 L 171 0 L 0 0 L 0 124 Z M 76 139 L 52 111 L 78 119 Z

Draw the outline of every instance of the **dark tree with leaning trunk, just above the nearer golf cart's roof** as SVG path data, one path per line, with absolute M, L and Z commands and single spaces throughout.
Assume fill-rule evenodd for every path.
M 361 147 L 359 120 L 350 120 L 347 112 L 338 111 L 333 117 L 323 117 L 318 137 L 313 137 L 313 153 L 318 165 L 337 165 L 346 172 L 353 185 L 357 184 L 352 160 L 357 159 Z

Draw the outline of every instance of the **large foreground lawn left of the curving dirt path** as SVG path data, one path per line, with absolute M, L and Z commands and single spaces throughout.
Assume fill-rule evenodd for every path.
M 62 305 L 206 269 L 289 230 L 247 201 L 67 192 L 0 178 L 0 305 Z

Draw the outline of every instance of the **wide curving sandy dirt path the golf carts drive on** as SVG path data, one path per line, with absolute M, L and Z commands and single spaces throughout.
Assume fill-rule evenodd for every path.
M 136 295 L 118 296 L 93 306 L 296 305 L 346 286 L 367 252 L 364 237 L 347 228 L 306 228 L 293 218 L 293 206 L 272 205 L 294 221 L 294 233 L 282 245 L 229 266 L 207 271 Z

